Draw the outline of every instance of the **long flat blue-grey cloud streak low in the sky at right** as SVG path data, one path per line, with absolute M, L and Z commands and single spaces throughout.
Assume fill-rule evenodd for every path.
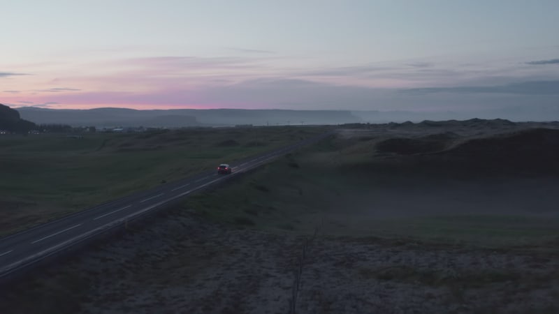
M 497 86 L 428 87 L 421 89 L 402 89 L 405 94 L 462 93 L 462 94 L 522 94 L 522 95 L 559 95 L 559 80 L 518 82 Z

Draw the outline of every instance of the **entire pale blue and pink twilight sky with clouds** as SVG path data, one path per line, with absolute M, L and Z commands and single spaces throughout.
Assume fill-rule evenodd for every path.
M 556 0 L 0 0 L 0 103 L 540 110 Z

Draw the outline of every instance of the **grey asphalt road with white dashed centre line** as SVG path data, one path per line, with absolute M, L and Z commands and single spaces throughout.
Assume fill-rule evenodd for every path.
M 75 248 L 87 239 L 108 232 L 126 221 L 148 214 L 165 204 L 187 197 L 201 188 L 217 184 L 243 172 L 259 167 L 298 147 L 317 142 L 330 135 L 326 133 L 289 147 L 240 160 L 231 164 L 233 173 L 203 172 L 180 181 L 162 184 L 156 188 L 100 204 L 90 209 L 65 216 L 50 223 L 0 239 L 0 280 L 22 273 L 46 257 L 52 257 L 69 248 Z M 225 162 L 226 160 L 224 160 Z M 216 165 L 217 166 L 217 165 Z

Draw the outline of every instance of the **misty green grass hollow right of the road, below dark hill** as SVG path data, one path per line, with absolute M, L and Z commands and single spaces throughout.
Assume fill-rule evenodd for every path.
M 321 142 L 284 156 L 234 184 L 189 197 L 185 207 L 213 220 L 272 232 L 311 234 L 315 227 L 321 227 L 321 232 L 332 236 L 487 247 L 557 245 L 558 215 L 491 211 L 491 204 L 487 205 L 489 211 L 468 212 L 464 211 L 467 204 L 453 200 L 456 195 L 447 196 L 447 205 L 439 204 L 442 212 L 427 211 L 429 202 L 436 199 L 428 195 L 433 190 L 460 190 L 477 182 L 452 181 L 452 186 L 450 181 L 430 182 L 429 177 L 422 177 L 424 169 L 412 173 L 412 169 L 383 168 L 370 159 L 370 150 L 359 148 L 362 146 L 339 140 Z M 395 197 L 386 197 L 382 205 L 375 202 L 383 193 Z M 456 204 L 460 210 L 455 210 Z M 472 209 L 477 206 L 472 203 Z M 396 215 L 391 207 L 408 208 Z

